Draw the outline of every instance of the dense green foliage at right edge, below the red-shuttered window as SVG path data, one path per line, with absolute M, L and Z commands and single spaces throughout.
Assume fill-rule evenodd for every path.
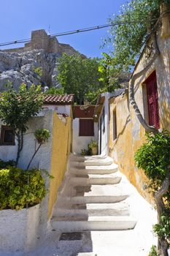
M 136 151 L 136 166 L 142 168 L 146 176 L 162 183 L 169 173 L 170 132 L 147 133 L 147 142 Z

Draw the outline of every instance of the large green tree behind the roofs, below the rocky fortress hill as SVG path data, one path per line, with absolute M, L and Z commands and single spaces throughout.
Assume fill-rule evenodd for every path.
M 80 55 L 68 56 L 65 53 L 59 59 L 58 81 L 64 93 L 74 94 L 77 104 L 96 103 L 104 82 L 99 81 L 98 59 L 82 58 Z

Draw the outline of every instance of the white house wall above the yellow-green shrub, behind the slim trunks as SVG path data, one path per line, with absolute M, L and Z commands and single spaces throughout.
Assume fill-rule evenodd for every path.
M 0 121 L 0 129 L 1 124 Z M 52 110 L 44 110 L 39 113 L 39 116 L 32 117 L 28 122 L 28 130 L 26 134 L 23 136 L 23 150 L 20 152 L 20 159 L 18 162 L 18 166 L 25 169 L 30 161 L 32 155 L 34 154 L 35 148 L 39 145 L 36 143 L 34 138 L 34 132 L 36 129 L 43 128 L 50 130 L 50 139 L 45 145 L 42 145 L 39 148 L 36 157 L 34 157 L 33 162 L 30 167 L 39 167 L 40 162 L 42 168 L 50 170 L 50 152 L 52 147 L 52 132 L 53 132 L 53 111 Z M 0 159 L 7 161 L 10 159 L 16 159 L 18 142 L 15 138 L 15 146 L 0 146 Z

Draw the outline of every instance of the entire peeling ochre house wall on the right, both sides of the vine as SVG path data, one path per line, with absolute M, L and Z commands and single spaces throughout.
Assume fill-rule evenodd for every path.
M 135 99 L 139 110 L 148 122 L 147 94 L 144 81 L 155 70 L 158 86 L 158 105 L 161 129 L 170 130 L 170 37 L 164 39 L 158 34 L 160 56 L 155 60 L 147 72 L 143 72 L 136 79 L 134 85 Z M 134 74 L 142 71 L 148 61 L 147 55 L 142 54 L 136 65 Z M 117 139 L 113 141 L 113 111 L 117 113 Z M 129 104 L 128 93 L 109 99 L 109 155 L 117 162 L 120 170 L 139 192 L 150 200 L 147 192 L 147 179 L 143 170 L 137 170 L 134 164 L 136 150 L 146 140 L 145 131 L 139 123 L 134 109 Z

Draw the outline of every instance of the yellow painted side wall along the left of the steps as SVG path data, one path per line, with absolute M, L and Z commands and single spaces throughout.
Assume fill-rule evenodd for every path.
M 51 217 L 53 206 L 57 199 L 58 188 L 61 186 L 63 177 L 66 173 L 66 165 L 69 157 L 72 143 L 72 118 L 66 117 L 66 124 L 58 118 L 57 114 L 53 116 L 53 146 L 51 156 L 50 175 L 54 178 L 50 180 L 50 196 L 48 217 Z

